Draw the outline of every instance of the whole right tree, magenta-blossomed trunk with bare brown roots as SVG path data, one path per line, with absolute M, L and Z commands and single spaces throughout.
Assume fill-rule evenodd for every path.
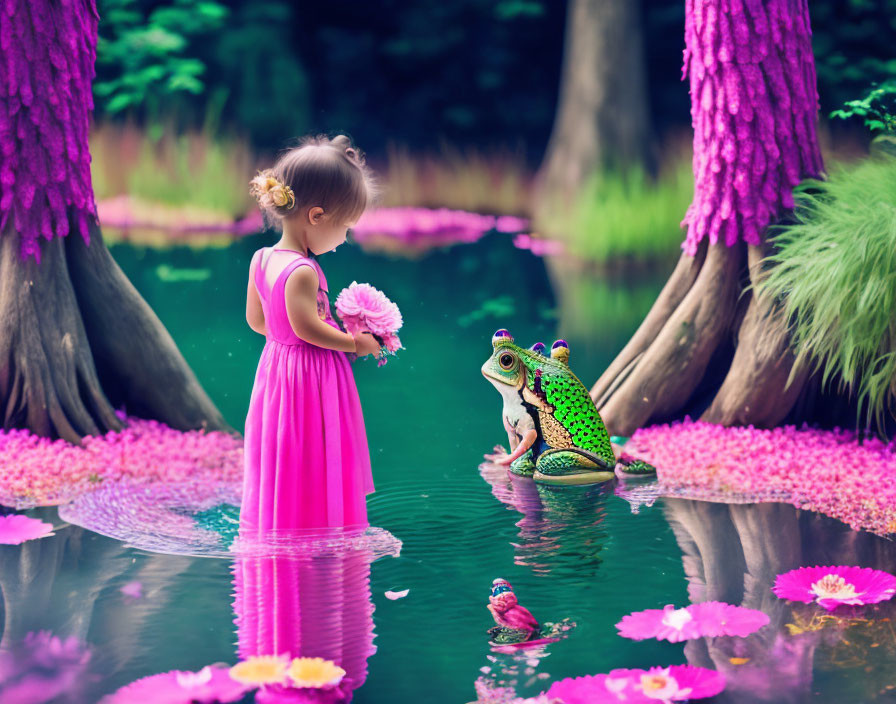
M 749 284 L 793 187 L 822 174 L 810 38 L 806 0 L 686 0 L 694 200 L 677 267 L 591 390 L 615 434 L 685 413 L 773 426 L 805 385 Z

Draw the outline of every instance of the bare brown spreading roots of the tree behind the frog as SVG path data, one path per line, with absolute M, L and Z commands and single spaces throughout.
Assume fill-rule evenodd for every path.
M 630 435 L 695 409 L 701 420 L 722 425 L 793 421 L 809 370 L 791 374 L 783 313 L 773 301 L 744 291 L 744 254 L 755 282 L 760 247 L 711 245 L 702 262 L 699 253 L 683 255 L 641 327 L 591 391 L 611 433 Z

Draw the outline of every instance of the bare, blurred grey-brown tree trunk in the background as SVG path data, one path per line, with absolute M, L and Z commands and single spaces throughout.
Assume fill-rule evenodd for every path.
M 571 0 L 567 12 L 557 116 L 539 172 L 547 218 L 601 167 L 649 155 L 640 3 Z

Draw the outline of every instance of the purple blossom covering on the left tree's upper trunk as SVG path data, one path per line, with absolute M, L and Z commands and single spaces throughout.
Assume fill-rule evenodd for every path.
M 0 236 L 22 258 L 96 222 L 88 129 L 93 110 L 95 0 L 7 0 L 0 8 Z

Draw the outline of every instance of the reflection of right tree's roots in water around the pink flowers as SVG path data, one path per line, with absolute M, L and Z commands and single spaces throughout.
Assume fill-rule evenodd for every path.
M 666 499 L 664 505 L 682 550 L 691 600 L 740 604 L 771 620 L 747 638 L 686 644 L 690 664 L 725 674 L 726 690 L 717 701 L 795 704 L 820 689 L 824 701 L 858 702 L 894 689 L 892 602 L 841 607 L 827 616 L 815 605 L 778 599 L 771 587 L 778 574 L 807 565 L 893 572 L 896 544 L 785 504 Z

